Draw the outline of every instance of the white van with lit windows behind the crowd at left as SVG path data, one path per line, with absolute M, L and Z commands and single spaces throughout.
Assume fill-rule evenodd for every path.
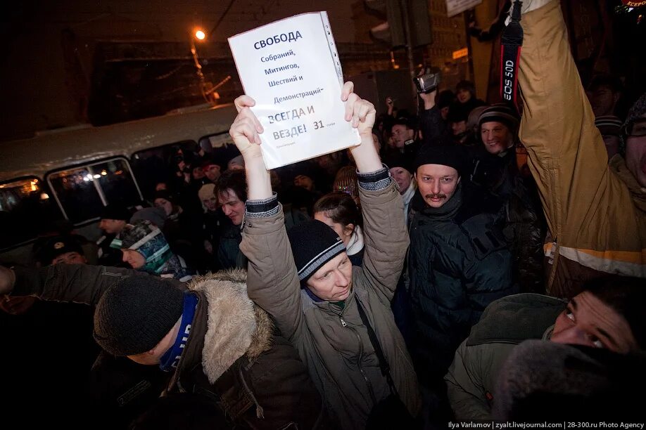
M 101 127 L 75 127 L 0 143 L 0 261 L 26 262 L 35 237 L 67 219 L 90 240 L 115 201 L 139 204 L 172 148 L 232 145 L 233 105 Z

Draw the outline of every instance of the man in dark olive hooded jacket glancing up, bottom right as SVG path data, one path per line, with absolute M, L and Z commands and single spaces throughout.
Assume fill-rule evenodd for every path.
M 494 301 L 457 349 L 445 376 L 455 418 L 492 419 L 492 405 L 498 402 L 496 379 L 508 373 L 505 359 L 526 339 L 621 354 L 643 351 L 645 300 L 646 289 L 639 278 L 609 275 L 588 282 L 569 303 L 542 294 L 515 294 Z M 540 359 L 550 357 L 541 354 Z

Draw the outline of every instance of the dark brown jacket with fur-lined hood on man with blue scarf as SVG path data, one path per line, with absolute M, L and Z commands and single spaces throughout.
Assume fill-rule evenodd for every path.
M 141 276 L 65 264 L 16 274 L 15 295 L 87 304 L 96 304 L 121 278 Z M 245 280 L 244 271 L 210 274 L 188 285 L 167 280 L 193 291 L 199 301 L 184 353 L 164 391 L 213 398 L 232 428 L 322 428 L 322 400 L 305 365 L 285 339 L 273 334 L 267 313 L 248 298 Z

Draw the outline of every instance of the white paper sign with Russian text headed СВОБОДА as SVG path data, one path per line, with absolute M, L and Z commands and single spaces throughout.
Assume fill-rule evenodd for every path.
M 360 143 L 343 119 L 343 72 L 325 12 L 229 37 L 251 108 L 265 131 L 262 157 L 275 169 Z

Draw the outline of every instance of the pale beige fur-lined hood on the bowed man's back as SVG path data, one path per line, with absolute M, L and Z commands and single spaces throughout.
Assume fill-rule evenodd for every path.
M 202 368 L 211 384 L 246 354 L 253 362 L 272 346 L 274 325 L 247 295 L 247 273 L 233 269 L 196 276 L 188 287 L 208 300 Z

